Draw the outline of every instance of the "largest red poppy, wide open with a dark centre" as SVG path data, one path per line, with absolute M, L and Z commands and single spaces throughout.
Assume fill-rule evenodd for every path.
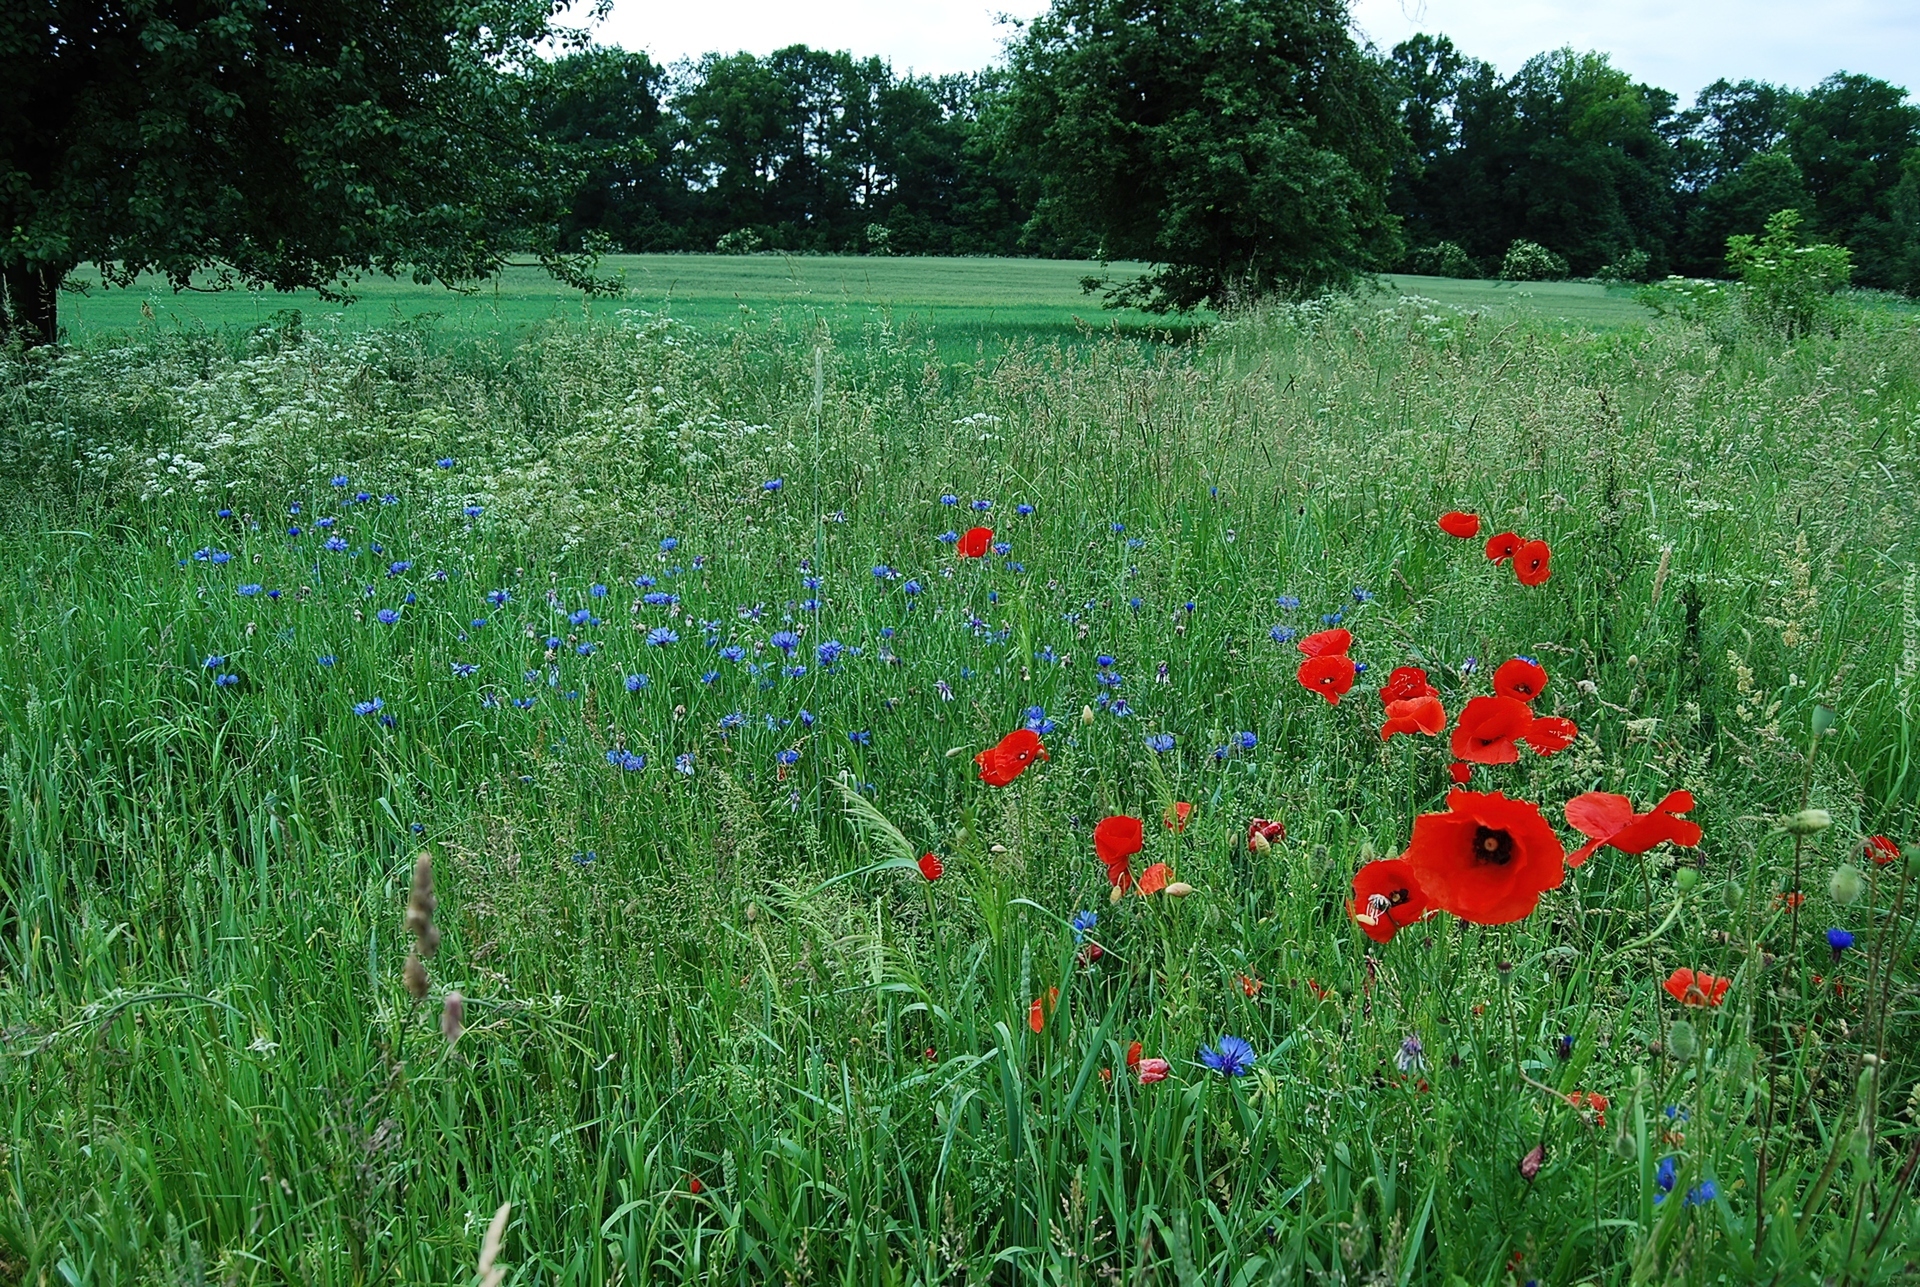
M 1480 926 L 1528 916 L 1567 880 L 1567 849 L 1538 805 L 1500 791 L 1448 791 L 1413 820 L 1405 862 L 1428 903 Z

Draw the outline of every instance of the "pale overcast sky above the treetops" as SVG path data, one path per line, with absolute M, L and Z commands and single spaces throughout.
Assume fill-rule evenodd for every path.
M 1415 31 L 1513 73 L 1540 50 L 1605 50 L 1692 102 L 1718 77 L 1807 88 L 1862 71 L 1920 90 L 1920 0 L 1350 0 L 1382 50 Z M 605 44 L 659 61 L 783 44 L 879 54 L 895 71 L 975 71 L 1044 0 L 612 0 Z

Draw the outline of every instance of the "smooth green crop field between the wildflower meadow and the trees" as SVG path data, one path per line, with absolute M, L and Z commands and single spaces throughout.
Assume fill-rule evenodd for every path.
M 891 259 L 793 255 L 611 255 L 603 275 L 624 282 L 624 296 L 584 300 L 538 265 L 513 267 L 472 294 L 390 279 L 355 284 L 351 305 L 313 292 L 175 292 L 163 279 L 129 290 L 106 290 L 98 273 L 81 273 L 84 294 L 61 296 L 61 319 L 83 342 L 154 328 L 253 328 L 282 309 L 300 309 L 309 325 L 340 317 L 353 327 L 430 321 L 478 334 L 520 332 L 555 321 L 609 319 L 620 309 L 672 315 L 699 328 L 828 325 L 843 338 L 887 325 L 906 334 L 933 334 L 948 359 L 977 344 L 1002 350 L 1037 340 L 1077 342 L 1094 332 L 1150 338 L 1187 336 L 1192 319 L 1154 317 L 1137 309 L 1102 309 L 1081 290 L 1085 277 L 1125 280 L 1142 265 L 1071 259 Z M 1384 277 L 1388 296 L 1419 294 L 1450 307 L 1494 313 L 1538 313 L 1580 327 L 1645 321 L 1628 290 L 1586 282 L 1465 282 L 1444 277 Z M 150 311 L 148 317 L 142 309 Z

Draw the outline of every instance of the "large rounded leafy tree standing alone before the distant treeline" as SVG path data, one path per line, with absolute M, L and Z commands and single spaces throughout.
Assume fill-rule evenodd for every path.
M 1110 302 L 1311 292 L 1398 257 L 1404 140 L 1344 0 L 1054 0 L 1008 96 L 1029 236 L 1158 265 Z

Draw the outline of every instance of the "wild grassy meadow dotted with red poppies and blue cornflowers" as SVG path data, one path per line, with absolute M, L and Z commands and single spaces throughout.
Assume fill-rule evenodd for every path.
M 1912 317 L 722 267 L 6 367 L 0 1274 L 1910 1281 Z

